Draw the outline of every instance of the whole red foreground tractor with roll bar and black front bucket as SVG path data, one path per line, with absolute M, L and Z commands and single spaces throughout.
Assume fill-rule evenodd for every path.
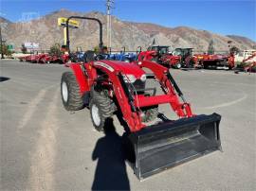
M 96 130 L 107 128 L 108 119 L 119 114 L 125 130 L 127 160 L 138 179 L 221 149 L 221 116 L 192 113 L 168 68 L 153 61 L 101 60 L 101 21 L 71 16 L 66 25 L 70 19 L 98 22 L 100 53 L 95 56 L 94 51 L 86 51 L 84 62 L 69 64 L 71 71 L 64 72 L 61 80 L 64 108 L 76 111 L 88 106 Z M 68 27 L 66 34 L 69 49 Z M 143 68 L 153 74 L 147 74 Z M 159 82 L 161 94 L 155 94 L 156 88 L 147 88 L 150 80 Z M 160 104 L 170 104 L 178 119 L 170 120 L 158 113 Z M 150 125 L 157 117 L 162 121 Z

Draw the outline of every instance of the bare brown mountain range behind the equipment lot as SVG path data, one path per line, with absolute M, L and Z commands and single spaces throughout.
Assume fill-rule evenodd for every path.
M 49 49 L 54 43 L 64 43 L 64 31 L 57 25 L 59 17 L 71 15 L 95 17 L 103 24 L 103 42 L 106 43 L 106 15 L 99 11 L 87 13 L 60 9 L 38 19 L 12 23 L 1 17 L 3 39 L 13 44 L 15 50 L 20 51 L 22 43 L 39 43 L 41 49 Z M 153 42 L 155 45 L 170 45 L 176 47 L 192 47 L 195 51 L 207 51 L 210 41 L 214 43 L 216 51 L 229 51 L 229 44 L 239 49 L 255 48 L 256 43 L 247 37 L 237 35 L 223 36 L 207 30 L 195 29 L 188 26 L 166 27 L 150 23 L 135 23 L 121 21 L 112 16 L 112 49 L 136 50 L 137 46 L 147 48 Z M 70 29 L 71 47 L 76 49 L 92 49 L 99 43 L 99 26 L 91 21 L 80 21 L 80 27 Z M 228 43 L 229 42 L 229 43 Z

